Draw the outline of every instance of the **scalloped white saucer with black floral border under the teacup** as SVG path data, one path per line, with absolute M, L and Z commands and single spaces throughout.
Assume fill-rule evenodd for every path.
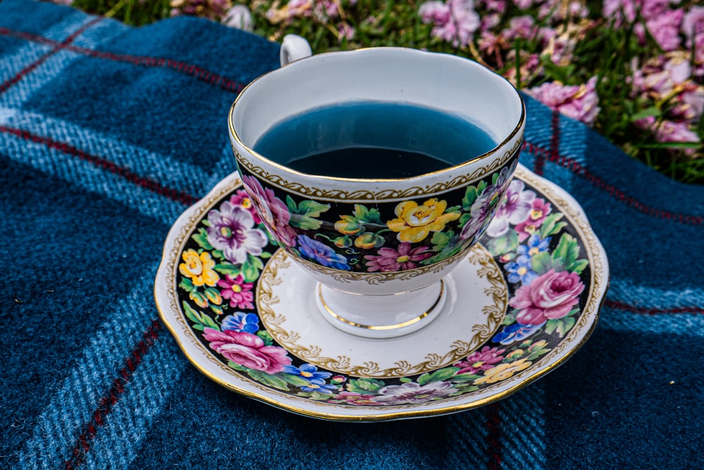
M 241 264 L 227 261 L 209 237 L 223 204 L 251 210 L 237 173 L 172 226 L 156 305 L 201 373 L 290 412 L 383 421 L 479 407 L 584 345 L 608 285 L 605 252 L 579 204 L 521 165 L 512 188 L 519 209 L 502 206 L 444 278 L 440 314 L 408 335 L 334 328 L 316 305 L 315 281 L 271 240 L 238 254 Z

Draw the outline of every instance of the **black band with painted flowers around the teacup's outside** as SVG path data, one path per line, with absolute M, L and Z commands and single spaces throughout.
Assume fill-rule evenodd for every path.
M 474 245 L 516 165 L 514 159 L 484 180 L 434 197 L 377 204 L 296 200 L 246 171 L 242 180 L 260 220 L 289 253 L 326 268 L 385 273 L 434 264 Z

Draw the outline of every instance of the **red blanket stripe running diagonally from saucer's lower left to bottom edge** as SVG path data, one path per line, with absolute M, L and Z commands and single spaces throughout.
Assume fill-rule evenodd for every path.
M 113 410 L 113 406 L 120 400 L 120 395 L 125 392 L 125 385 L 130 382 L 132 374 L 139 366 L 139 363 L 142 362 L 144 354 L 149 352 L 149 349 L 158 339 L 160 329 L 161 322 L 158 319 L 153 319 L 149 328 L 144 331 L 142 340 L 137 342 L 130 355 L 125 358 L 125 366 L 118 371 L 110 390 L 99 400 L 90 421 L 84 424 L 81 434 L 76 438 L 71 457 L 65 462 L 66 470 L 76 469 L 85 462 L 91 441 L 95 438 L 99 428 L 105 423 L 105 418 Z

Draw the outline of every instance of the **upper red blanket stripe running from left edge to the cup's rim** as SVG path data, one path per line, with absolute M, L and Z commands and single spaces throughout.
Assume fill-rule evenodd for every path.
M 86 47 L 78 47 L 72 44 L 63 44 L 61 42 L 56 42 L 51 39 L 46 39 L 46 37 L 32 35 L 28 32 L 15 31 L 6 27 L 0 27 L 0 35 L 16 37 L 18 39 L 24 39 L 26 41 L 37 42 L 39 44 L 47 44 L 49 46 L 55 47 L 56 50 L 67 50 L 75 52 L 76 54 L 82 54 L 84 56 L 93 58 L 102 58 L 109 61 L 132 63 L 136 66 L 142 67 L 156 67 L 156 68 L 170 68 L 176 70 L 177 72 L 184 73 L 191 77 L 208 82 L 211 85 L 226 89 L 229 92 L 239 93 L 244 88 L 239 82 L 230 80 L 229 78 L 218 75 L 217 73 L 210 72 L 205 68 L 196 66 L 191 63 L 175 61 L 170 58 L 162 57 L 148 57 L 148 56 L 134 56 L 131 54 L 116 54 L 114 52 L 106 51 L 96 51 L 94 49 L 87 49 Z M 0 90 L 1 92 L 1 90 Z

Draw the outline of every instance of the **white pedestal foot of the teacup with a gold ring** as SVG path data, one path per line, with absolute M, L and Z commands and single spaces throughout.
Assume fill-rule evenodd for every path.
M 318 283 L 316 302 L 323 318 L 339 330 L 364 338 L 396 338 L 433 321 L 447 297 L 442 280 L 386 295 L 354 294 Z

